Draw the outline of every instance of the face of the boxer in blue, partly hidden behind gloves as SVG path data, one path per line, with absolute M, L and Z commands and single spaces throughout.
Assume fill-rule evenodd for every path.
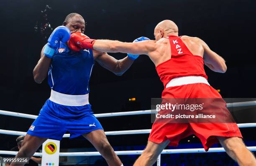
M 84 19 L 80 16 L 76 15 L 72 17 L 67 25 L 65 25 L 67 28 L 69 28 L 71 33 L 79 32 L 84 33 L 85 30 L 85 22 Z

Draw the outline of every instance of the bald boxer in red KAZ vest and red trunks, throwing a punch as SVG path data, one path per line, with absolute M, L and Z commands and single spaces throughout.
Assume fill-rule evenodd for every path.
M 204 64 L 215 72 L 225 73 L 227 66 L 222 57 L 200 38 L 179 37 L 178 27 L 171 20 L 156 25 L 154 35 L 156 40 L 137 43 L 85 38 L 73 42 L 79 41 L 78 47 L 83 49 L 148 55 L 164 83 L 162 98 L 221 98 L 207 82 Z M 243 143 L 236 123 L 154 123 L 146 149 L 134 166 L 153 165 L 167 145 L 177 146 L 180 139 L 191 134 L 200 138 L 206 151 L 220 142 L 240 166 L 256 165 L 256 159 Z

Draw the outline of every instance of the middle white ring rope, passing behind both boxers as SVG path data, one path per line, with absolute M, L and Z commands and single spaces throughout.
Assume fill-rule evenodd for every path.
M 239 128 L 256 127 L 256 123 L 240 123 L 237 125 Z M 148 134 L 150 132 L 151 132 L 151 129 L 144 129 L 144 130 L 125 130 L 125 131 L 105 131 L 105 134 L 107 136 L 115 136 L 115 135 L 130 135 L 130 134 Z M 26 132 L 2 130 L 2 129 L 0 129 L 0 134 L 26 136 Z M 70 134 L 64 134 L 63 138 L 69 138 L 69 136 Z

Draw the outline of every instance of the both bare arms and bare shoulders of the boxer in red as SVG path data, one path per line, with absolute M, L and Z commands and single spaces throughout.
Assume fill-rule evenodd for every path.
M 207 44 L 199 39 L 189 36 L 181 37 L 182 43 L 186 45 L 187 50 L 192 55 L 201 56 L 211 70 L 215 72 L 225 73 L 227 66 L 225 60 L 217 53 L 210 50 Z M 161 38 L 160 40 L 144 40 L 136 43 L 123 43 L 113 40 L 97 40 L 93 45 L 95 50 L 110 53 L 130 53 L 133 55 L 146 54 L 157 66 L 166 60 L 171 59 L 171 48 L 168 38 Z

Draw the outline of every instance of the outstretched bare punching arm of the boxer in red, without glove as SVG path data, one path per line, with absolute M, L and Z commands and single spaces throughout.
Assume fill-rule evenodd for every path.
M 137 43 L 124 43 L 117 40 L 96 40 L 93 49 L 109 53 L 130 53 L 140 55 L 155 51 L 157 48 L 155 40 L 144 40 Z

